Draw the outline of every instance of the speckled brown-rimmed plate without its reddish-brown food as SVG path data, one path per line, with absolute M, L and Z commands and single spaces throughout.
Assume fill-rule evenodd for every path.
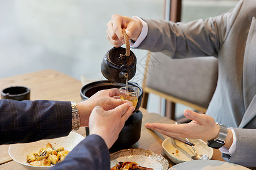
M 118 162 L 135 162 L 142 167 L 153 168 L 154 170 L 168 169 L 168 160 L 152 151 L 141 148 L 127 149 L 115 152 L 110 155 L 110 167 Z

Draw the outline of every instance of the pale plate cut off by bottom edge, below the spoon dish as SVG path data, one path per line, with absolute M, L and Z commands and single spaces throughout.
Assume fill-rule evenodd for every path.
M 225 170 L 247 170 L 248 168 L 242 167 L 241 165 L 228 163 L 220 160 L 191 160 L 188 162 L 180 163 L 174 165 L 168 170 L 181 170 L 181 169 L 190 169 L 190 170 L 216 170 L 216 169 L 225 169 Z

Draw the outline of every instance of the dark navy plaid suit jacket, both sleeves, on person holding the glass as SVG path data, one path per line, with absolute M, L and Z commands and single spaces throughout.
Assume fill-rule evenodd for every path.
M 71 103 L 0 100 L 0 144 L 34 142 L 68 135 Z M 98 135 L 89 135 L 52 169 L 110 169 L 109 150 Z

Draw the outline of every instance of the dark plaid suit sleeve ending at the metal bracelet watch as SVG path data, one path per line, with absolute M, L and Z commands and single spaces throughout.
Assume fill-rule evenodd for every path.
M 0 145 L 63 137 L 72 130 L 70 101 L 0 100 Z

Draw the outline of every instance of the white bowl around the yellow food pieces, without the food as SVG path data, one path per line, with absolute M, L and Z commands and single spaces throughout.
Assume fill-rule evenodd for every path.
M 27 155 L 31 152 L 38 151 L 42 147 L 46 147 L 49 142 L 52 146 L 62 145 L 65 150 L 71 151 L 77 144 L 79 144 L 84 137 L 78 133 L 71 131 L 67 137 L 55 138 L 55 139 L 44 139 L 41 141 L 31 143 L 18 143 L 9 146 L 9 155 L 13 160 L 18 162 L 26 169 L 40 169 L 46 170 L 49 167 L 34 167 L 27 163 Z

